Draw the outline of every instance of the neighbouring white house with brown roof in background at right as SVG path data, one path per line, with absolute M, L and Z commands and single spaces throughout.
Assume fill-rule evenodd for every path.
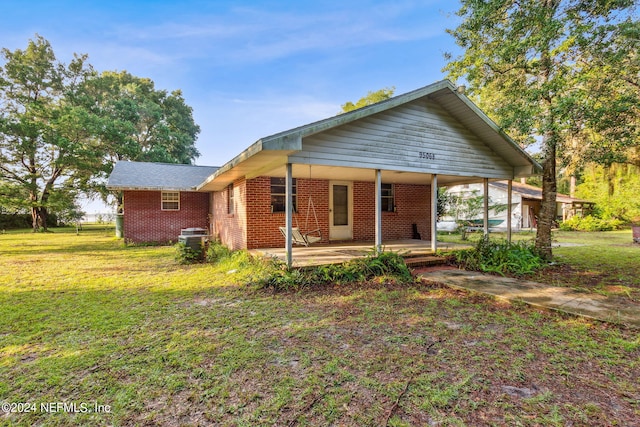
M 506 226 L 507 209 L 507 181 L 489 182 L 489 200 L 490 205 L 494 208 L 490 209 L 489 220 L 497 224 L 498 228 Z M 482 184 L 462 184 L 447 188 L 451 194 L 482 194 Z M 542 202 L 542 188 L 522 182 L 512 183 L 512 200 L 511 200 L 511 227 L 519 230 L 522 228 L 536 228 L 537 218 L 540 214 Z M 556 195 L 556 218 L 559 221 L 565 221 L 574 215 L 588 215 L 593 209 L 594 203 L 586 200 L 570 197 L 565 194 L 558 193 Z M 470 218 L 466 218 L 470 219 Z M 445 217 L 441 223 L 442 227 L 446 227 L 448 222 L 454 218 Z

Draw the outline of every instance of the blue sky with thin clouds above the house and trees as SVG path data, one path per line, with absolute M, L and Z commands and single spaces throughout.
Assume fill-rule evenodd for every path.
M 58 59 L 87 53 L 181 89 L 202 132 L 196 164 L 219 166 L 261 137 L 335 115 L 368 91 L 445 78 L 450 0 L 5 1 L 0 46 L 40 34 Z

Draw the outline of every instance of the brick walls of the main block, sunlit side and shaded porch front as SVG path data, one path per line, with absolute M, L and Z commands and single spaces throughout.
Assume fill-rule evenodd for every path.
M 374 239 L 374 183 L 353 183 L 353 238 Z M 279 227 L 285 225 L 284 212 L 271 212 L 271 180 L 258 177 L 234 183 L 235 214 L 227 213 L 227 190 L 216 192 L 212 203 L 213 233 L 227 246 L 238 248 L 284 247 Z M 410 239 L 412 224 L 417 224 L 422 239 L 430 238 L 430 187 L 427 185 L 396 184 L 394 186 L 396 212 L 382 213 L 383 239 Z M 309 196 L 315 215 L 309 210 Z M 322 243 L 329 242 L 329 181 L 297 179 L 297 213 L 294 227 L 302 231 L 320 228 Z M 317 217 L 317 223 L 316 223 Z M 246 232 L 245 232 L 246 226 Z

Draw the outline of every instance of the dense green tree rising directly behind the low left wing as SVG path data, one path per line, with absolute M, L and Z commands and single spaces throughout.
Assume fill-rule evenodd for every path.
M 101 123 L 96 136 L 104 149 L 103 179 L 92 188 L 103 197 L 105 179 L 118 160 L 191 164 L 200 155 L 195 147 L 200 127 L 181 91 L 157 90 L 152 80 L 126 71 L 103 72 L 84 89 L 83 103 Z

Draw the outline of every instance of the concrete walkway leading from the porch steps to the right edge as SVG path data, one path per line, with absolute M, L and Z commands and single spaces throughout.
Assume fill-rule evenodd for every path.
M 421 273 L 420 276 L 453 288 L 640 329 L 640 304 L 622 297 L 606 297 L 464 270 L 434 270 Z

